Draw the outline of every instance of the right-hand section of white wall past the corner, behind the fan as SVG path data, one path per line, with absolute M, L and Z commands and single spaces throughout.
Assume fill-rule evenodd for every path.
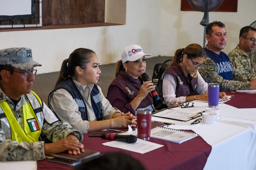
M 161 31 L 159 55 L 173 56 L 176 49 L 191 43 L 203 46 L 204 26 L 200 22 L 204 12 L 180 11 L 180 0 L 161 0 Z M 237 12 L 209 12 L 209 22 L 221 21 L 226 25 L 228 53 L 239 42 L 239 31 L 256 20 L 256 1 L 238 0 Z M 207 41 L 206 41 L 207 44 Z

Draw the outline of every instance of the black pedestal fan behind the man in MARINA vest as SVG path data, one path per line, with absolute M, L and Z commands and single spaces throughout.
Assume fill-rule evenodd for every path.
M 205 28 L 209 24 L 208 12 L 215 11 L 220 7 L 224 0 L 188 0 L 190 6 L 195 10 L 204 12 L 204 17 L 200 25 L 204 26 L 204 46 L 205 46 Z M 203 47 L 204 47 L 203 46 Z

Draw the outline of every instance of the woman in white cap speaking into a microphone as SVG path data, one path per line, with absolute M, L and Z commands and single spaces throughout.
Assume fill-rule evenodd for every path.
M 130 45 L 122 52 L 122 60 L 116 63 L 116 78 L 108 88 L 107 98 L 121 112 L 136 114 L 137 108 L 155 109 L 151 91 L 155 85 L 143 83 L 141 74 L 146 71 L 146 57 L 138 45 Z

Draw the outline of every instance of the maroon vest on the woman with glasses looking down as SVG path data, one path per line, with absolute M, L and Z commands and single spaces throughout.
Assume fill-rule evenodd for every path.
M 189 74 L 187 77 L 179 63 L 179 61 L 172 63 L 172 65 L 168 67 L 164 72 L 164 74 L 172 75 L 174 80 L 177 82 L 176 97 L 192 96 L 198 94 L 196 92 L 197 72 L 194 74 Z

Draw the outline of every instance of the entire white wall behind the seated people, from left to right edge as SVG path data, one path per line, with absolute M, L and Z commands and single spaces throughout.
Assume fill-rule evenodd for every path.
M 152 56 L 173 56 L 177 48 L 203 45 L 203 12 L 180 11 L 180 0 L 127 0 L 126 25 L 89 28 L 0 32 L 0 49 L 32 48 L 38 73 L 59 71 L 76 48 L 94 50 L 100 64 L 115 63 L 129 44 L 138 44 Z M 210 12 L 210 22 L 226 24 L 229 52 L 238 43 L 239 30 L 256 20 L 255 0 L 238 0 L 237 12 Z

